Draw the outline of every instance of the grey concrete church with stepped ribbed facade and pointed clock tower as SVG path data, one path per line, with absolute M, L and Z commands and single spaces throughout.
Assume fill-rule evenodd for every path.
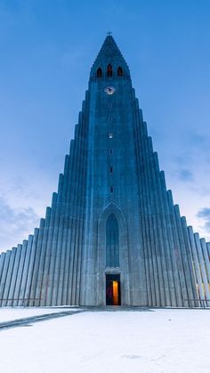
M 129 68 L 107 36 L 52 206 L 0 255 L 0 304 L 208 305 L 209 255 L 166 189 Z

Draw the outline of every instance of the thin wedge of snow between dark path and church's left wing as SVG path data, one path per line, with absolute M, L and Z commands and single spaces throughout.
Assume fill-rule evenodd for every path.
M 20 320 L 31 316 L 45 315 L 65 311 L 77 311 L 71 307 L 31 307 L 31 308 L 0 308 L 0 323 L 4 321 Z

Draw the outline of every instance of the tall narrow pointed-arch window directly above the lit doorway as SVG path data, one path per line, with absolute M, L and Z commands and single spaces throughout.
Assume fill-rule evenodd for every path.
M 119 266 L 119 230 L 113 213 L 109 215 L 106 225 L 106 266 Z

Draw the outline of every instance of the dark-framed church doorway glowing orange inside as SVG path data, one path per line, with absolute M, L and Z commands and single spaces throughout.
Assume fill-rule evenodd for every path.
M 121 304 L 120 274 L 106 274 L 106 304 Z

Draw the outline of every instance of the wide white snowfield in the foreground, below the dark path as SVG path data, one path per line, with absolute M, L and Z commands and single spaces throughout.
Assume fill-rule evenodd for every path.
M 0 371 L 209 373 L 209 346 L 209 310 L 86 311 L 1 331 Z

